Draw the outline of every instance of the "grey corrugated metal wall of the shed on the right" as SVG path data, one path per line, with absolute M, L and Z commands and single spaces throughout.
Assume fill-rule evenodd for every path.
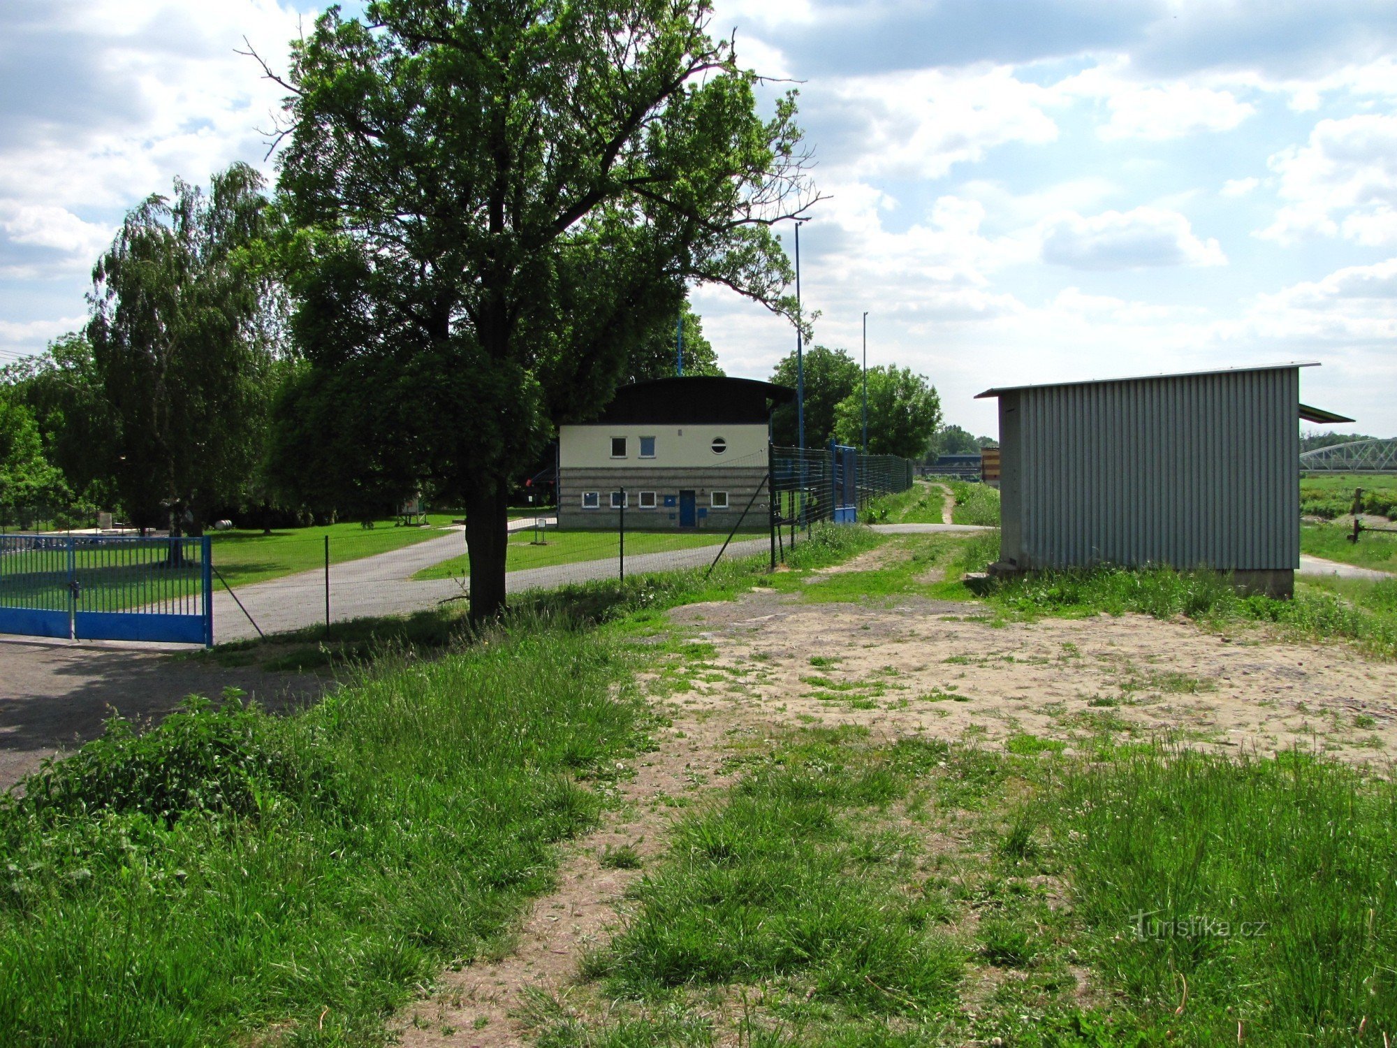
M 1000 395 L 1002 558 L 1299 566 L 1299 370 Z

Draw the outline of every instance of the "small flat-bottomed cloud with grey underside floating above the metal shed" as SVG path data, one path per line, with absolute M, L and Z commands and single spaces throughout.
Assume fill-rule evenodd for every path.
M 1042 259 L 1076 270 L 1132 270 L 1154 265 L 1221 265 L 1217 240 L 1200 240 L 1178 211 L 1137 207 L 1083 218 L 1076 211 L 1044 222 Z

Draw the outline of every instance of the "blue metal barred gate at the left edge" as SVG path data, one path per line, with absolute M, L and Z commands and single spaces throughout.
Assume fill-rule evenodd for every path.
M 204 538 L 0 535 L 0 633 L 214 644 Z

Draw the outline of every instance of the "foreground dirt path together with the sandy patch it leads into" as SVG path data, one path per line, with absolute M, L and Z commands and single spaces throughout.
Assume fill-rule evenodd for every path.
M 882 546 L 809 584 L 900 552 Z M 1139 615 L 995 626 L 985 611 L 921 597 L 817 604 L 764 588 L 675 609 L 671 620 L 712 650 L 687 690 L 662 700 L 673 727 L 637 762 L 602 829 L 569 847 L 557 889 L 534 903 L 517 949 L 448 973 L 404 1014 L 402 1044 L 525 1045 L 539 995 L 576 1003 L 590 994 L 578 966 L 617 926 L 626 889 L 662 851 L 683 810 L 676 798 L 724 785 L 724 757 L 745 739 L 852 722 L 886 739 L 996 749 L 1032 736 L 1069 752 L 1169 739 L 1229 753 L 1298 746 L 1383 766 L 1397 753 L 1394 665 Z M 606 864 L 608 850 L 624 845 L 641 869 Z

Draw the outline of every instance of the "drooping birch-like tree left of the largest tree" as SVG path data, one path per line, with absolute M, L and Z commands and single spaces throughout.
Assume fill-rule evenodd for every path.
M 92 366 L 112 412 L 113 478 L 141 527 L 197 531 L 261 454 L 279 340 L 257 263 L 270 210 L 244 163 L 205 194 L 179 179 L 127 214 L 92 271 Z

